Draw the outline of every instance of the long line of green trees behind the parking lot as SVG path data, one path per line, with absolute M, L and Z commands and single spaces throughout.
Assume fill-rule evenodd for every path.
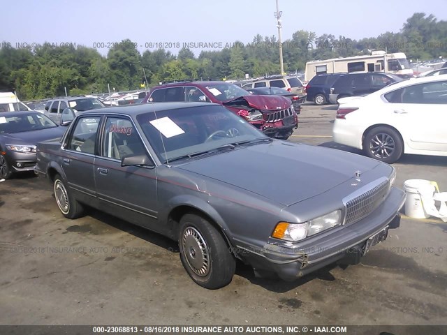
M 34 47 L 0 48 L 0 91 L 17 91 L 22 100 L 95 94 L 115 87 L 117 91 L 138 89 L 147 79 L 149 86 L 186 78 L 203 80 L 242 79 L 279 73 L 279 43 L 274 36 L 254 36 L 251 43 L 235 41 L 222 50 L 200 52 L 198 57 L 182 48 L 175 55 L 168 50 L 146 50 L 126 39 L 102 56 L 85 46 L 51 43 Z M 316 36 L 298 30 L 282 43 L 284 69 L 304 70 L 309 60 L 370 54 L 373 50 L 405 52 L 408 59 L 446 57 L 447 22 L 434 15 L 415 13 L 400 32 L 386 32 L 375 38 L 353 40 L 331 34 Z

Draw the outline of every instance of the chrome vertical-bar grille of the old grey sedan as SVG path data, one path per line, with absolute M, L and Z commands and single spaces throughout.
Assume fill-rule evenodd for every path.
M 360 188 L 350 197 L 344 198 L 343 202 L 346 209 L 344 223 L 354 223 L 374 211 L 386 197 L 389 188 L 388 179 L 382 177 Z

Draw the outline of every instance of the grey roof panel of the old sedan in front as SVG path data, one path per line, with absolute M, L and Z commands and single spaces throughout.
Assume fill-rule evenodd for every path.
M 96 110 L 87 110 L 82 112 L 85 114 L 127 114 L 129 116 L 136 116 L 139 114 L 151 112 L 163 112 L 165 110 L 179 110 L 188 107 L 205 107 L 205 106 L 219 106 L 217 103 L 142 103 L 137 105 L 120 105 L 114 107 L 98 108 Z

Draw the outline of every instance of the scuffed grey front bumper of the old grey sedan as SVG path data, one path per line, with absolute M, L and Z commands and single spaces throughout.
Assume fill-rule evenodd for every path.
M 242 251 L 240 257 L 255 270 L 272 271 L 286 281 L 293 281 L 344 258 L 353 264 L 367 252 L 371 246 L 367 244 L 374 244 L 369 239 L 383 241 L 388 229 L 399 227 L 399 211 L 404 202 L 405 193 L 392 188 L 386 200 L 371 214 L 324 238 L 310 237 L 287 246 L 265 244 L 263 248 L 241 243 L 237 250 Z

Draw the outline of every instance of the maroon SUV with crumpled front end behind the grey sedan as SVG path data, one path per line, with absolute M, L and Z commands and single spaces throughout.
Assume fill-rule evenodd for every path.
M 228 82 L 174 82 L 151 89 L 142 103 L 219 103 L 261 129 L 270 137 L 286 140 L 298 128 L 298 115 L 284 96 L 258 96 Z

